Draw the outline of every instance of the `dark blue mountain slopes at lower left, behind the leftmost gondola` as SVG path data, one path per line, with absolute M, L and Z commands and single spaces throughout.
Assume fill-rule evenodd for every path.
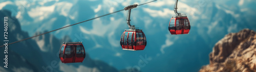
M 27 38 L 28 34 L 20 29 L 18 20 L 12 18 L 10 14 L 11 12 L 7 10 L 0 10 L 0 19 L 8 16 L 9 41 L 13 42 Z M 0 22 L 3 22 L 3 20 Z M 40 33 L 37 32 L 35 35 Z M 3 39 L 1 38 L 1 40 Z M 57 39 L 51 34 L 45 34 L 8 45 L 8 68 L 0 67 L 0 71 L 118 71 L 103 61 L 92 60 L 89 54 L 86 54 L 87 56 L 83 63 L 61 63 L 58 57 L 58 51 L 62 42 L 71 42 L 71 39 L 68 36 L 65 36 L 63 39 Z M 1 50 L 4 51 L 4 48 Z M 3 53 L 1 53 L 1 58 L 4 59 Z M 57 66 L 52 66 L 52 62 L 57 62 Z M 4 66 L 3 63 L 1 65 Z M 46 69 L 43 67 L 46 67 Z

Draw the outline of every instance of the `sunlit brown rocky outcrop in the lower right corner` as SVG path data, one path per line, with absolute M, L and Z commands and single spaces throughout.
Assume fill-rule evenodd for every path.
M 227 34 L 215 44 L 209 59 L 200 71 L 256 71 L 256 33 L 244 29 Z

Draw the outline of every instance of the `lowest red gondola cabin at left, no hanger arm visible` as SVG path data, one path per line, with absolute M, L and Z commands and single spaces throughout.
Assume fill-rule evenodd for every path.
M 59 58 L 62 63 L 82 62 L 86 58 L 82 42 L 63 42 L 60 47 Z

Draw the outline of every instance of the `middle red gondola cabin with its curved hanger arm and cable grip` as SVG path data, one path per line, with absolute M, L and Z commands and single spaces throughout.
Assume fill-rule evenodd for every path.
M 128 15 L 126 18 L 127 25 L 129 30 L 125 30 L 121 36 L 120 45 L 122 46 L 123 50 L 144 50 L 146 46 L 146 36 L 142 32 L 142 30 L 136 29 L 135 26 L 130 24 L 130 16 L 131 10 L 136 8 L 138 5 L 130 5 L 124 8 L 124 10 L 128 10 Z

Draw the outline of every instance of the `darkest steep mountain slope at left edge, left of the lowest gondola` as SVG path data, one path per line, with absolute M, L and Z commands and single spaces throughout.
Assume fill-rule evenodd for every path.
M 14 42 L 20 39 L 24 39 L 29 37 L 28 33 L 23 32 L 20 29 L 20 25 L 19 25 L 19 21 L 16 18 L 12 18 L 11 17 L 11 12 L 7 11 L 7 10 L 0 10 L 0 22 L 4 23 L 4 17 L 7 16 L 8 17 L 8 40 L 10 42 Z M 4 36 L 4 27 L 1 27 L 1 35 Z M 4 40 L 4 37 L 0 39 L 1 41 Z M 3 42 L 1 42 L 3 43 Z M 4 47 L 1 48 L 1 50 L 4 50 Z M 25 62 L 27 62 L 27 66 L 31 66 L 31 67 L 26 67 L 26 64 L 24 65 L 25 68 L 32 69 L 34 71 L 40 71 L 42 70 L 41 66 L 46 65 L 45 62 L 42 60 L 42 55 L 39 53 L 40 50 L 38 49 L 38 46 L 36 45 L 36 42 L 34 40 L 26 40 L 23 42 L 19 42 L 19 43 L 15 43 L 13 45 L 8 45 L 8 50 L 13 52 L 10 52 L 10 56 L 17 56 L 17 58 L 14 59 L 18 59 L 18 60 L 11 60 L 11 58 L 9 60 L 11 61 L 17 61 L 19 62 L 24 62 L 22 60 L 26 60 Z M 19 57 L 22 56 L 24 59 L 19 59 Z M 1 53 L 1 57 L 4 57 L 4 53 Z M 3 63 L 2 63 L 3 64 Z M 1 65 L 2 65 L 1 64 Z M 10 68 L 8 69 L 14 69 L 16 68 L 22 68 L 23 65 L 19 65 L 17 64 L 17 66 L 15 66 L 15 62 L 9 64 Z

